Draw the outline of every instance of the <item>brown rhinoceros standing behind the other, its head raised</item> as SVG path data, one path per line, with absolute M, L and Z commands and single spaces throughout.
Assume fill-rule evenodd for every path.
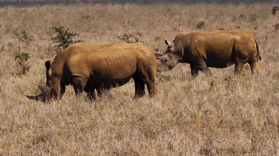
M 157 55 L 158 71 L 171 70 L 178 63 L 188 63 L 191 75 L 199 71 L 209 72 L 208 67 L 226 68 L 235 64 L 235 72 L 241 74 L 249 63 L 252 74 L 259 72 L 260 57 L 257 39 L 247 31 L 221 30 L 216 32 L 182 32 L 169 42 L 163 55 Z

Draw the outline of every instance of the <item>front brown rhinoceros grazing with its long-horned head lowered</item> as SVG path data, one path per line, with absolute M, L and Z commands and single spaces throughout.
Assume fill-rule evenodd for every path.
M 107 44 L 76 43 L 61 50 L 52 64 L 45 62 L 46 86 L 30 99 L 47 101 L 47 97 L 61 99 L 65 85 L 72 84 L 76 95 L 82 91 L 90 100 L 104 89 L 122 86 L 131 78 L 135 83 L 133 98 L 145 95 L 145 84 L 151 96 L 157 94 L 155 79 L 158 64 L 153 51 L 143 43 L 112 42 Z

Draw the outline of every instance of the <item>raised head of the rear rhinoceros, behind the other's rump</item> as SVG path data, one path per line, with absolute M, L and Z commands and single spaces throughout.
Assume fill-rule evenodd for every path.
M 163 55 L 157 55 L 158 71 L 171 70 L 179 63 L 179 51 L 173 42 L 165 40 L 168 45 Z

